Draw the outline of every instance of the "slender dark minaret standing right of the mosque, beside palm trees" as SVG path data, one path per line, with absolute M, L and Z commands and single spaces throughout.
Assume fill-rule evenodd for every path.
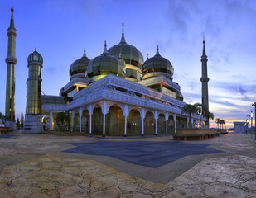
M 203 54 L 201 56 L 200 61 L 202 62 L 202 77 L 200 78 L 200 82 L 202 82 L 202 104 L 205 107 L 205 110 L 203 111 L 203 115 L 206 115 L 209 113 L 209 99 L 208 99 L 208 82 L 209 78 L 207 76 L 207 56 L 205 53 L 205 38 L 203 40 Z M 207 118 L 207 121 L 205 123 L 206 127 L 209 127 L 209 118 Z

